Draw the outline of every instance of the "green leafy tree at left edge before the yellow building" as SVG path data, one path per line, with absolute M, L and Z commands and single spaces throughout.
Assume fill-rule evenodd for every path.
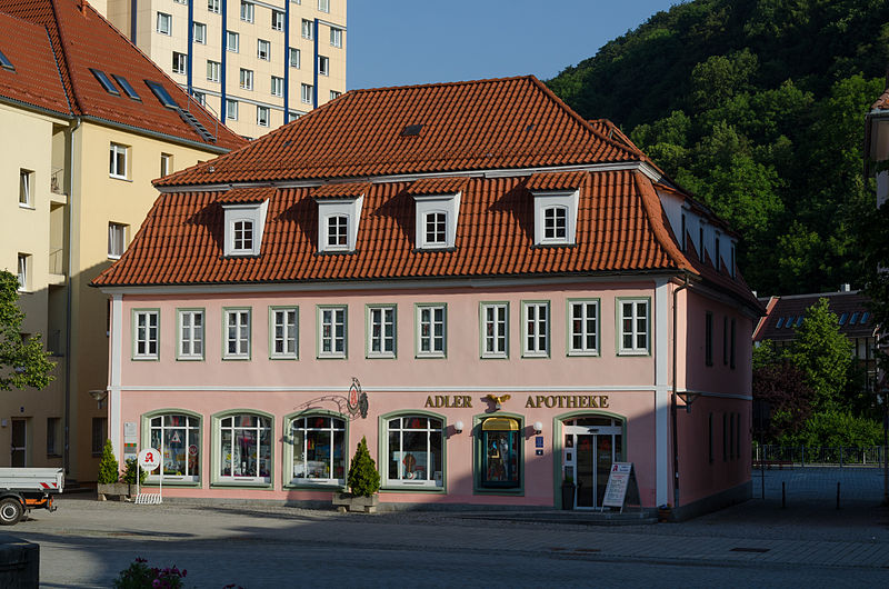
M 52 380 L 54 365 L 47 359 L 40 335 L 22 338 L 18 289 L 18 277 L 0 270 L 0 390 L 42 389 Z

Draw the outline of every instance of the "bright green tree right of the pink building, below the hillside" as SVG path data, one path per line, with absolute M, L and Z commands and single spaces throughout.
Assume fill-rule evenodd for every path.
M 842 405 L 852 362 L 852 345 L 840 333 L 839 321 L 828 308 L 827 299 L 819 299 L 806 310 L 802 325 L 788 353 L 812 388 L 812 408 L 816 412 L 836 410 Z

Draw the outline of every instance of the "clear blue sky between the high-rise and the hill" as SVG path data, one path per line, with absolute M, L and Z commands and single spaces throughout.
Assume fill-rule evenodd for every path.
M 503 78 L 541 80 L 680 0 L 349 0 L 349 90 Z

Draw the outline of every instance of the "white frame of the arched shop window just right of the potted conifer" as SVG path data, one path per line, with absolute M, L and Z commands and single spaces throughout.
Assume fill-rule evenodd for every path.
M 426 428 L 417 428 L 417 429 L 406 428 L 404 427 L 406 426 L 406 420 L 412 419 L 412 418 L 426 419 L 427 420 Z M 382 452 L 383 452 L 382 460 L 384 461 L 384 465 L 381 465 L 381 469 L 380 469 L 381 470 L 381 475 L 382 475 L 381 478 L 382 478 L 383 488 L 401 488 L 401 489 L 413 488 L 413 489 L 431 489 L 431 490 L 443 488 L 444 487 L 444 469 L 447 468 L 446 456 L 444 456 L 444 445 L 446 445 L 444 431 L 448 428 L 448 425 L 444 421 L 444 419 L 442 417 L 440 417 L 440 416 L 432 416 L 432 415 L 429 415 L 429 413 L 399 413 L 399 415 L 394 415 L 394 416 L 384 416 L 381 419 L 382 419 L 383 425 L 384 425 L 384 427 L 383 427 L 384 431 L 382 432 Z M 396 428 L 396 429 L 390 429 L 391 428 L 390 421 L 393 421 L 396 419 L 399 420 L 399 427 Z M 440 429 L 432 428 L 430 426 L 430 423 L 429 423 L 430 419 L 434 419 L 436 421 L 438 421 L 441 425 L 441 428 Z M 398 436 L 399 448 L 398 449 L 389 447 L 390 432 L 398 432 L 399 433 L 399 436 Z M 408 433 L 426 432 L 426 435 L 427 435 L 427 438 L 426 438 L 426 457 L 423 459 L 423 461 L 426 462 L 424 467 L 427 469 L 426 470 L 426 472 L 427 472 L 427 478 L 426 479 L 409 479 L 409 478 L 403 476 L 404 475 L 403 469 L 406 467 L 404 457 L 406 457 L 407 453 L 410 453 L 410 452 L 403 450 L 403 447 L 404 447 L 404 433 L 406 432 L 408 432 Z M 440 471 L 431 471 L 430 472 L 429 471 L 429 467 L 431 466 L 431 458 L 432 458 L 432 443 L 431 443 L 431 437 L 432 436 L 440 436 L 440 440 L 439 440 L 438 447 L 439 447 L 439 452 L 441 452 L 441 455 L 439 456 L 439 459 L 441 460 L 441 470 Z M 393 457 L 393 452 L 398 452 L 398 456 Z M 389 477 L 389 467 L 390 467 L 390 463 L 392 463 L 392 462 L 398 465 L 398 477 L 396 477 L 396 478 L 390 478 Z

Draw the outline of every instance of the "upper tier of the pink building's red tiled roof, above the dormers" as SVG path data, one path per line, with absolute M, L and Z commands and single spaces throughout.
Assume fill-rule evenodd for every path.
M 422 124 L 419 134 L 402 136 Z M 532 76 L 353 90 L 157 186 L 638 162 Z

